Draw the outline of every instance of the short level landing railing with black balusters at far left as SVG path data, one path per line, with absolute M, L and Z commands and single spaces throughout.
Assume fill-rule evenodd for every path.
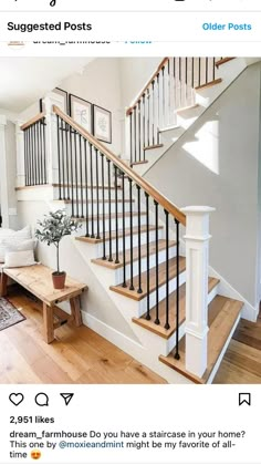
M 45 113 L 40 113 L 21 126 L 24 133 L 25 186 L 48 184 Z

